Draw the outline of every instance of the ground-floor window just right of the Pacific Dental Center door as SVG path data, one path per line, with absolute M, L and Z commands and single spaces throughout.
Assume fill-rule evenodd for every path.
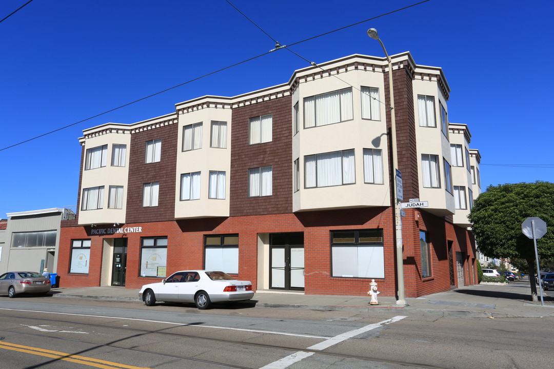
M 142 237 L 140 276 L 165 278 L 167 269 L 167 237 Z

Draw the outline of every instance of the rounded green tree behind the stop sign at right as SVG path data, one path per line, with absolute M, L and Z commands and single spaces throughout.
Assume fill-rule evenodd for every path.
M 529 273 L 531 299 L 537 301 L 535 247 L 521 232 L 528 217 L 546 222 L 547 232 L 537 240 L 540 259 L 554 257 L 554 184 L 514 183 L 489 186 L 475 200 L 469 214 L 477 247 L 488 257 L 523 259 Z

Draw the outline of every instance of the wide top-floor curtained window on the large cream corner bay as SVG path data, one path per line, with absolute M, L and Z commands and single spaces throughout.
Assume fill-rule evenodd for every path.
M 352 87 L 304 98 L 304 128 L 353 119 Z

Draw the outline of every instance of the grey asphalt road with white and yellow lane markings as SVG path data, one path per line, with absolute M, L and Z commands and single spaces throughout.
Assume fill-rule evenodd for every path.
M 0 297 L 0 369 L 547 368 L 554 318 Z

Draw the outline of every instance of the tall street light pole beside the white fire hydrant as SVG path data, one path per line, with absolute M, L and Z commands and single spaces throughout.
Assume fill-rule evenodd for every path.
M 392 84 L 392 61 L 391 57 L 388 56 L 387 50 L 384 48 L 383 41 L 379 39 L 379 35 L 375 28 L 370 28 L 367 30 L 367 35 L 372 39 L 379 41 L 381 47 L 383 48 L 384 55 L 387 56 L 388 61 L 388 92 L 390 99 L 390 109 L 391 109 L 391 141 L 392 141 L 392 172 L 391 172 L 391 181 L 392 181 L 392 191 L 393 191 L 393 204 L 392 208 L 394 210 L 394 238 L 396 239 L 396 282 L 398 284 L 398 299 L 396 303 L 398 305 L 406 305 L 406 300 L 404 299 L 404 252 L 403 252 L 403 243 L 402 243 L 402 216 L 400 214 L 400 204 L 401 200 L 398 199 L 398 188 L 396 183 L 396 173 L 398 170 L 398 151 L 397 151 L 397 142 L 396 142 L 396 116 L 394 115 L 394 91 Z

